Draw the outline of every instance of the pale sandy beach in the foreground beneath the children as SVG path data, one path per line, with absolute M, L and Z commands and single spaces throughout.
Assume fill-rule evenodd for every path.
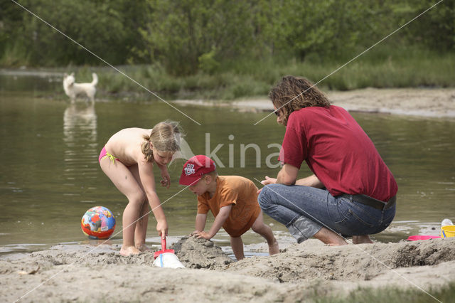
M 455 281 L 455 238 L 341 247 L 308 240 L 234 262 L 212 242 L 185 237 L 171 246 L 181 269 L 154 267 L 153 252 L 122 257 L 109 245 L 93 248 L 2 257 L 0 301 L 296 302 L 358 287 L 419 288 L 429 297 L 424 291 Z

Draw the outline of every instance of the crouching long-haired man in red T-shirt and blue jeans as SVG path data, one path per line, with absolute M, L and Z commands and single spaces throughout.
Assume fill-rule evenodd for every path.
M 355 119 L 304 78 L 284 77 L 269 97 L 286 127 L 277 179 L 262 181 L 264 213 L 283 223 L 297 242 L 371 243 L 395 216 L 397 183 Z M 306 161 L 314 175 L 297 180 Z

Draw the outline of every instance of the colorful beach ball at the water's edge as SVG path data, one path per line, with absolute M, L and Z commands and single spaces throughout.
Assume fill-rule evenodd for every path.
M 80 227 L 88 238 L 107 239 L 115 229 L 115 218 L 104 206 L 95 206 L 85 212 Z

